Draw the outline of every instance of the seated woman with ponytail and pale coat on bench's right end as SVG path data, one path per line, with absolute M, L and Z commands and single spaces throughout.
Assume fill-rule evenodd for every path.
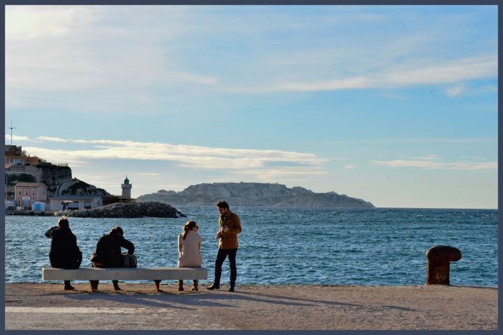
M 203 238 L 198 234 L 198 225 L 195 221 L 185 223 L 183 234 L 178 235 L 178 267 L 201 267 L 201 243 Z M 178 290 L 183 291 L 183 281 L 178 281 Z M 198 281 L 194 280 L 191 290 L 198 290 Z

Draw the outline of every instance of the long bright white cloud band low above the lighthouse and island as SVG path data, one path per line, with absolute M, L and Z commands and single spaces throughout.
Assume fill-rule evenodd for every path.
M 133 142 L 116 140 L 64 140 L 56 137 L 38 137 L 50 142 L 75 142 L 89 144 L 85 149 L 46 149 L 25 147 L 31 154 L 48 161 L 82 163 L 93 159 L 128 159 L 140 161 L 173 161 L 177 165 L 195 169 L 248 170 L 263 169 L 268 163 L 294 164 L 300 168 L 319 167 L 326 159 L 314 154 L 295 151 L 228 149 L 199 147 L 158 142 Z M 105 144 L 105 145 L 103 145 Z M 291 170 L 294 173 L 296 168 Z

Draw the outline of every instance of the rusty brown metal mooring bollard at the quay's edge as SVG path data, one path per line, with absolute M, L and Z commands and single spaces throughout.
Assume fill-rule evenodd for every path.
M 450 262 L 461 259 L 461 251 L 452 246 L 432 246 L 426 251 L 426 285 L 451 285 Z

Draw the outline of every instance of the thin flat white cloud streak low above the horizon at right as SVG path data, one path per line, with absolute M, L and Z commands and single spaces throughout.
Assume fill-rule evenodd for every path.
M 497 170 L 497 162 L 486 163 L 441 163 L 433 161 L 371 161 L 374 165 L 388 168 L 424 168 L 428 170 Z

